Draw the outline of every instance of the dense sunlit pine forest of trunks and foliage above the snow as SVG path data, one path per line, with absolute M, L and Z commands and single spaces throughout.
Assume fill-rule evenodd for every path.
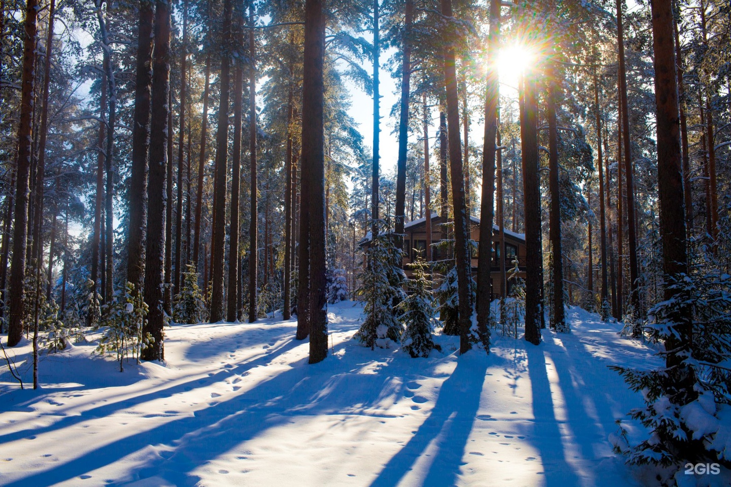
M 579 305 L 664 344 L 665 369 L 621 369 L 667 440 L 632 458 L 716 455 L 656 404 L 729 402 L 728 1 L 2 0 L 1 14 L 7 345 L 116 326 L 162 360 L 170 320 L 281 313 L 317 362 L 327 303 L 352 296 L 370 347 L 408 336 L 428 355 L 439 309 L 460 353 L 489 352 L 491 298 L 524 300 L 535 345 Z M 390 131 L 398 144 L 379 145 Z M 404 226 L 420 218 L 407 282 Z M 499 257 L 502 230 L 525 261 Z

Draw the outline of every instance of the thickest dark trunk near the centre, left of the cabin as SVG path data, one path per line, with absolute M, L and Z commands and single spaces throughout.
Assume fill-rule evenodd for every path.
M 376 0 L 377 1 L 377 0 Z M 308 222 L 310 364 L 327 357 L 327 294 L 325 290 L 325 153 L 323 108 L 325 87 L 325 15 L 322 0 L 305 2 L 305 54 L 303 66 L 302 187 L 312 218 Z M 308 212 L 300 212 L 304 215 Z M 302 242 L 300 241 L 300 245 Z

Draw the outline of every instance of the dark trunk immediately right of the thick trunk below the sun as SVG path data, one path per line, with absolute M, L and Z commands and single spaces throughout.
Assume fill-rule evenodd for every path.
M 561 247 L 561 186 L 558 184 L 558 127 L 556 126 L 556 99 L 558 98 L 556 64 L 551 61 L 548 70 L 548 185 L 550 192 L 550 248 L 553 275 L 553 314 L 550 326 L 556 331 L 568 331 L 564 313 L 564 255 Z

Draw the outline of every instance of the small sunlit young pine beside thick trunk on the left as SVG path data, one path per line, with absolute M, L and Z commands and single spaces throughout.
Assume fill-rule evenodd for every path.
M 134 358 L 139 362 L 140 352 L 154 340 L 149 333 L 143 334 L 148 307 L 142 294 L 135 293 L 135 285 L 127 283 L 124 294 L 117 291 L 106 308 L 102 321 L 95 327 L 105 327 L 95 352 L 115 353 L 119 372 L 123 372 L 124 359 Z

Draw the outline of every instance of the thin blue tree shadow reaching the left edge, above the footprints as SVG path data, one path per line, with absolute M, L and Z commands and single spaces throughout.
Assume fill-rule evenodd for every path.
M 76 423 L 87 421 L 90 418 L 104 418 L 106 416 L 112 415 L 115 412 L 135 407 L 137 406 L 137 404 L 142 404 L 143 402 L 151 399 L 156 399 L 163 396 L 169 397 L 175 394 L 179 394 L 181 392 L 190 391 L 194 388 L 211 386 L 212 384 L 219 383 L 224 379 L 231 377 L 232 375 L 242 375 L 243 373 L 249 371 L 250 369 L 253 369 L 254 367 L 266 366 L 267 364 L 269 364 L 270 361 L 273 360 L 273 358 L 276 358 L 277 356 L 280 356 L 286 353 L 288 350 L 291 350 L 292 348 L 295 348 L 301 344 L 302 342 L 294 339 L 294 333 L 292 333 L 292 338 L 284 342 L 278 348 L 270 348 L 267 350 L 267 353 L 264 353 L 259 358 L 255 358 L 251 361 L 246 361 L 245 363 L 239 364 L 236 367 L 232 367 L 230 369 L 221 369 L 219 370 L 219 372 L 216 372 L 213 375 L 209 375 L 208 377 L 188 380 L 175 386 L 156 388 L 153 391 L 148 392 L 147 394 L 133 396 L 129 399 L 113 402 L 111 404 L 102 404 L 96 407 L 92 407 L 88 410 L 84 410 L 81 415 L 64 416 L 60 420 L 56 421 L 53 424 L 50 424 L 49 426 L 45 426 L 44 428 L 21 429 L 17 432 L 0 434 L 0 442 L 10 442 L 29 437 L 31 435 L 38 436 L 39 434 L 43 434 L 45 432 L 57 431 L 59 429 L 73 426 Z

